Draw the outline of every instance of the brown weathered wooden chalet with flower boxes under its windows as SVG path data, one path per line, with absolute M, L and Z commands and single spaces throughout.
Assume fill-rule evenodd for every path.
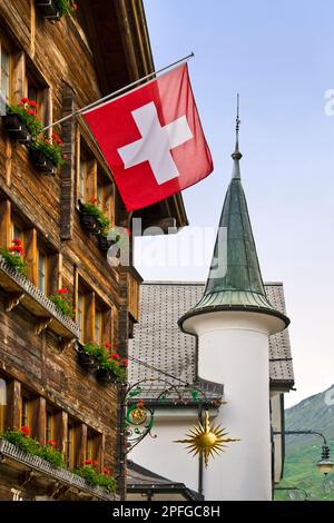
M 48 126 L 154 70 L 141 0 L 78 0 L 62 17 L 52 16 L 55 4 L 0 2 L 2 117 L 27 97 Z M 0 500 L 112 500 L 125 495 L 120 386 L 85 371 L 78 347 L 109 343 L 126 356 L 141 278 L 131 266 L 108 265 L 97 236 L 81 225 L 79 200 L 97 198 L 112 226 L 131 228 L 132 216 L 82 119 L 53 130 L 66 164 L 48 174 L 32 162 L 20 131 L 0 122 L 0 246 L 19 239 L 28 267 L 26 278 L 0 258 L 0 432 L 28 426 L 41 445 L 55 442 L 67 467 L 0 437 Z M 145 226 L 187 225 L 179 195 L 136 216 Z M 49 299 L 61 288 L 72 319 Z M 116 494 L 71 472 L 87 461 L 118 477 Z

